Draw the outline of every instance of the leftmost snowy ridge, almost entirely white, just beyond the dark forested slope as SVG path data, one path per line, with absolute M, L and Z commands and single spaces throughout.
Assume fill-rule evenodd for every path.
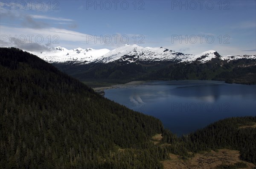
M 98 57 L 107 54 L 110 50 L 108 49 L 99 49 L 95 50 L 92 48 L 76 48 L 68 50 L 60 46 L 53 48 L 50 51 L 46 52 L 31 52 L 32 54 L 37 55 L 41 59 L 44 59 L 47 62 L 76 62 L 76 63 L 89 63 L 96 60 Z

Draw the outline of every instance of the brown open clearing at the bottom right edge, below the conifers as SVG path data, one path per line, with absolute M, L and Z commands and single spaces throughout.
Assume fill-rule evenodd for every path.
M 253 163 L 247 163 L 239 159 L 239 151 L 220 149 L 218 152 L 204 152 L 195 154 L 195 157 L 188 160 L 182 160 L 178 155 L 169 154 L 171 160 L 162 161 L 164 169 L 215 169 L 221 164 L 234 164 L 244 162 L 247 164 L 246 169 L 253 169 Z

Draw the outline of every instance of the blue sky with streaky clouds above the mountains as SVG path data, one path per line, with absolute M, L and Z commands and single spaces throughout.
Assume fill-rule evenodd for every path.
M 256 54 L 256 0 L 0 0 L 0 46 Z

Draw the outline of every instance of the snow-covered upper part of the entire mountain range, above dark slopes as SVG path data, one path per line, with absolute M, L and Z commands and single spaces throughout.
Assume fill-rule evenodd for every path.
M 62 47 L 53 48 L 46 52 L 31 52 L 37 55 L 41 59 L 44 59 L 50 63 L 65 63 L 72 62 L 78 64 L 88 64 L 88 63 L 109 63 L 109 62 L 124 62 L 126 64 L 131 62 L 166 62 L 171 61 L 175 63 L 206 63 L 212 59 L 220 60 L 230 60 L 235 59 L 256 59 L 256 55 L 238 55 L 238 56 L 221 56 L 218 52 L 210 50 L 203 52 L 198 55 L 183 54 L 180 52 L 172 51 L 166 48 L 143 48 L 138 45 L 124 45 L 113 49 L 112 51 L 108 49 L 95 50 L 92 48 L 76 48 L 68 50 Z

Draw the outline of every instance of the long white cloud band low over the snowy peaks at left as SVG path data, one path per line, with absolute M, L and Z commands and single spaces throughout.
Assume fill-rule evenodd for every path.
M 78 48 L 78 47 L 85 47 L 85 48 L 108 48 L 113 49 L 117 48 L 118 46 L 124 45 L 124 43 L 121 42 L 121 37 L 123 34 L 116 34 L 118 37 L 115 40 L 114 37 L 112 37 L 111 43 L 105 43 L 104 42 L 104 36 L 105 35 L 89 35 L 84 34 L 78 31 L 70 31 L 64 28 L 15 28 L 8 25 L 0 25 L 1 29 L 1 36 L 4 36 L 4 42 L 9 42 L 9 37 L 16 37 L 18 39 L 17 43 L 19 43 L 19 39 L 21 38 L 21 41 L 23 41 L 24 37 L 26 37 L 26 43 L 37 43 L 36 37 L 38 36 L 39 41 L 43 38 L 43 42 L 40 43 L 45 45 L 51 45 L 53 47 L 56 46 L 62 46 L 66 48 Z M 8 37 L 6 39 L 6 36 Z M 112 36 L 112 35 L 109 35 Z M 128 36 L 129 38 L 129 44 L 133 44 L 134 36 L 133 34 L 125 34 L 125 36 Z M 138 35 L 135 35 L 138 37 Z M 20 38 L 19 38 L 20 37 Z M 99 38 L 103 38 L 101 41 Z M 31 42 L 30 42 L 31 39 Z M 125 39 L 125 38 L 124 38 Z M 3 39 L 2 39 L 3 40 Z M 107 39 L 106 39 L 107 40 Z M 10 46 L 13 45 L 14 40 L 12 40 L 12 43 L 9 43 Z M 56 43 L 57 42 L 57 43 Z M 115 43 L 116 42 L 116 43 Z M 16 43 L 16 42 L 15 42 Z M 29 45 L 29 44 L 28 44 Z M 140 44 L 138 44 L 140 45 Z M 16 45 L 17 46 L 17 45 Z M 24 45 L 19 45 L 21 47 L 24 47 Z

